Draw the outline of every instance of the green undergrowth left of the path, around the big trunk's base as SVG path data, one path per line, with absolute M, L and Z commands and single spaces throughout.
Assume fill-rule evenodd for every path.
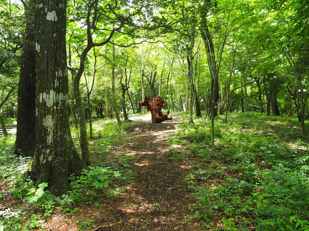
M 122 124 L 123 128 L 130 125 L 132 123 L 129 122 Z M 71 132 L 78 150 L 78 132 L 75 127 L 72 127 Z M 93 122 L 92 140 L 95 141 L 95 148 L 92 149 L 94 155 L 91 155 L 91 163 L 96 167 L 84 170 L 80 177 L 71 175 L 69 177 L 71 191 L 61 197 L 50 194 L 48 183 L 43 182 L 38 188 L 34 188 L 33 182 L 23 174 L 27 171 L 32 158 L 23 157 L 22 153 L 13 154 L 15 134 L 0 137 L 0 231 L 43 229 L 46 221 L 57 210 L 74 215 L 78 213 L 80 204 L 92 204 L 98 207 L 102 198 L 117 197 L 125 191 L 125 187 L 119 187 L 114 182 L 116 178 L 124 182 L 133 179 L 133 174 L 127 169 L 129 167 L 127 160 L 130 157 L 119 156 L 120 161 L 117 164 L 104 161 L 109 154 L 110 145 L 119 140 L 120 134 L 118 125 L 113 120 Z M 2 200 L 15 202 L 6 207 L 2 204 Z M 81 226 L 79 230 L 85 230 L 94 225 L 94 222 L 88 219 L 81 221 L 79 225 Z

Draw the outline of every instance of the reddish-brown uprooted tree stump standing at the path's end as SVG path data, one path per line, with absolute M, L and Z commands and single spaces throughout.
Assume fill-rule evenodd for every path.
M 167 111 L 166 114 L 163 114 L 161 111 L 164 99 L 160 99 L 158 95 L 156 98 L 145 97 L 145 101 L 142 102 L 138 100 L 138 103 L 142 106 L 146 106 L 151 111 L 151 121 L 153 124 L 162 123 L 165 120 L 172 120 L 172 117 L 167 117 L 170 114 L 170 111 Z

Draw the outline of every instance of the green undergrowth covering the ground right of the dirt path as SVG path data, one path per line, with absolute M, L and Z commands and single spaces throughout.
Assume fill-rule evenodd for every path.
M 204 165 L 184 179 L 196 198 L 185 221 L 203 219 L 214 230 L 309 230 L 309 146 L 297 121 L 238 113 L 224 124 L 217 117 L 214 147 L 205 117 L 194 123 L 170 139 Z

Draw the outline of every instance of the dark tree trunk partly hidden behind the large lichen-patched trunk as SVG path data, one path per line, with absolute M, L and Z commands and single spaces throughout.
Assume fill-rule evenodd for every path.
M 34 9 L 34 1 L 29 1 L 29 7 Z M 27 12 L 27 10 L 26 10 Z M 15 153 L 24 156 L 34 156 L 36 143 L 36 67 L 34 47 L 34 19 L 27 15 L 25 39 L 21 55 L 20 75 L 17 92 L 17 131 Z

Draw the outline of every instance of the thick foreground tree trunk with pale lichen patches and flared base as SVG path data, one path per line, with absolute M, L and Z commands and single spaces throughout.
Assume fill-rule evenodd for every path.
M 39 0 L 36 31 L 36 151 L 28 174 L 51 193 L 70 190 L 68 175 L 86 166 L 73 144 L 69 124 L 66 64 L 66 0 Z M 43 10 L 46 9 L 46 10 Z

